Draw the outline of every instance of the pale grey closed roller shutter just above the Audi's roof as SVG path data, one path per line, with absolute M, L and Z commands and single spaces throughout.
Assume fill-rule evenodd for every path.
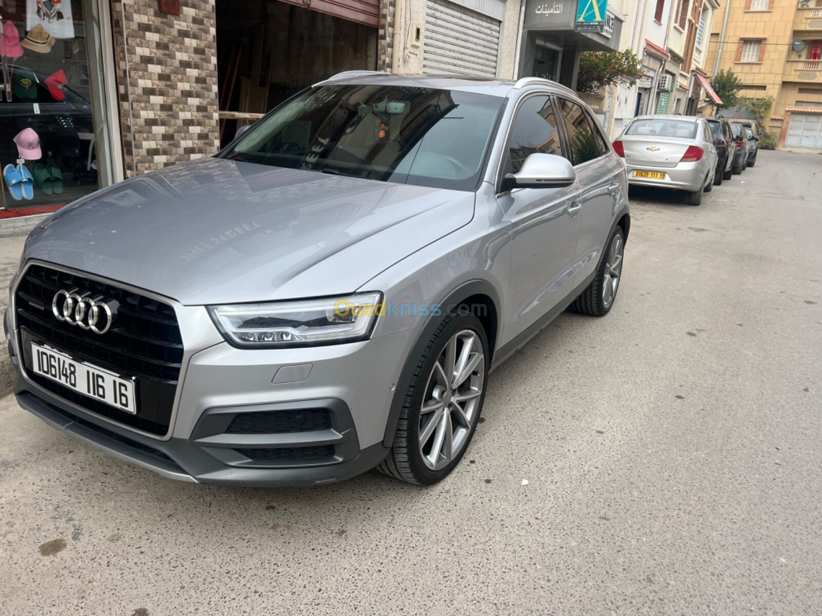
M 427 0 L 423 72 L 496 77 L 500 21 L 455 2 Z

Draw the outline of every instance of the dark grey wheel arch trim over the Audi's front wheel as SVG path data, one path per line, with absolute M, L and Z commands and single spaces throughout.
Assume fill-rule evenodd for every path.
M 426 347 L 428 342 L 430 342 L 436 328 L 441 324 L 442 319 L 445 319 L 446 315 L 448 315 L 451 310 L 454 310 L 466 299 L 474 295 L 486 295 L 487 297 L 490 297 L 496 308 L 497 315 L 501 314 L 499 294 L 496 292 L 496 289 L 492 283 L 489 283 L 487 280 L 483 280 L 482 278 L 476 278 L 462 283 L 446 295 L 445 299 L 440 302 L 441 314 L 431 315 L 428 317 L 425 324 L 423 324 L 423 327 L 419 329 L 417 338 L 413 342 L 413 347 L 411 347 L 411 352 L 409 352 L 408 356 L 405 358 L 403 370 L 399 373 L 399 379 L 394 390 L 394 397 L 391 398 L 391 406 L 388 411 L 388 421 L 386 422 L 386 433 L 382 439 L 382 444 L 384 447 L 391 447 L 391 445 L 394 444 L 394 433 L 396 432 L 397 424 L 399 423 L 399 413 L 402 411 L 403 402 L 405 401 L 405 394 L 408 392 L 411 379 L 413 378 L 413 371 L 417 367 L 418 357 L 423 353 L 423 349 Z M 501 328 L 497 323 L 497 338 L 499 337 L 500 329 Z M 492 348 L 496 349 L 496 340 L 489 340 L 488 343 L 489 345 L 492 345 Z M 489 361 L 489 365 L 491 364 L 491 361 Z

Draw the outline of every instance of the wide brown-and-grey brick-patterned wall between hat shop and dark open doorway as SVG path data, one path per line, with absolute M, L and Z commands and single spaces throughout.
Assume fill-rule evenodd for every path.
M 219 149 L 215 0 L 180 5 L 112 2 L 126 177 Z

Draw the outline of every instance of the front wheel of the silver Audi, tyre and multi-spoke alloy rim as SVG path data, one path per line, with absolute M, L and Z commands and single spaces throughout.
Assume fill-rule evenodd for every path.
M 462 459 L 483 410 L 488 341 L 474 315 L 446 315 L 417 358 L 394 444 L 377 467 L 399 480 L 432 485 Z

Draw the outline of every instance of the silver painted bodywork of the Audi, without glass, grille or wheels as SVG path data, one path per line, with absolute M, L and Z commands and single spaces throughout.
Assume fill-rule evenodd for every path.
M 550 94 L 584 106 L 570 90 L 541 80 L 516 90 L 512 81 L 435 77 L 366 75 L 337 81 L 346 80 L 507 98 L 476 191 L 210 158 L 98 191 L 53 214 L 26 241 L 24 267 L 36 261 L 87 273 L 163 298 L 178 315 L 185 357 L 169 434 L 138 434 L 76 405 L 70 410 L 142 444 L 153 443 L 169 457 L 186 457 L 191 466 L 169 469 L 166 462 L 146 462 L 143 453 L 126 448 L 120 457 L 155 464 L 165 476 L 247 485 L 316 483 L 366 470 L 390 445 L 401 372 L 437 319 L 430 310 L 400 311 L 377 318 L 371 338 L 363 342 L 252 350 L 225 342 L 205 306 L 357 291 L 382 292 L 395 306 L 432 306 L 458 297 L 459 289 L 477 288 L 496 310 L 496 337 L 490 341 L 498 351 L 492 362 L 496 368 L 593 277 L 603 246 L 628 213 L 625 165 L 612 150 L 578 165 L 573 186 L 496 190 L 507 127 L 520 100 Z M 581 207 L 569 212 L 574 204 Z M 13 281 L 7 315 L 12 333 L 15 287 Z M 10 338 L 19 358 L 16 337 Z M 292 365 L 311 365 L 310 377 L 273 383 L 280 367 Z M 67 401 L 55 400 L 26 379 L 25 370 L 16 392 L 25 407 L 61 423 L 48 404 Z M 48 404 L 34 401 L 30 393 Z M 363 462 L 310 473 L 230 466 L 204 470 L 205 454 L 192 442 L 206 411 L 315 399 L 347 405 Z M 86 430 L 76 423 L 63 428 L 81 438 Z M 100 436 L 95 444 L 110 449 L 113 443 Z M 197 453 L 181 453 L 192 449 Z

